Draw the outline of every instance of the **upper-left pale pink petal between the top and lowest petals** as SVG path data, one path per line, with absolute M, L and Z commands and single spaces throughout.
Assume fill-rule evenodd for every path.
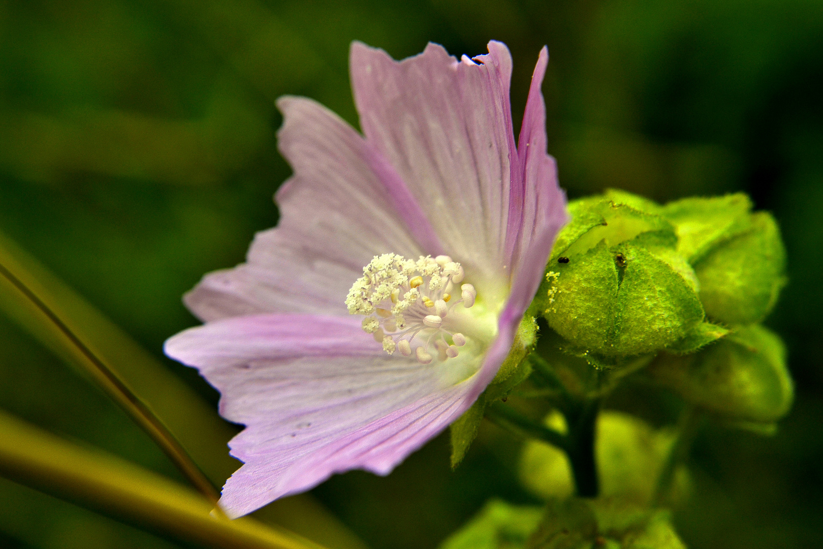
M 363 137 L 313 100 L 277 105 L 279 147 L 295 172 L 277 192 L 281 221 L 255 236 L 247 263 L 207 274 L 185 296 L 202 320 L 346 314 L 346 293 L 374 255 L 439 253 L 420 207 Z

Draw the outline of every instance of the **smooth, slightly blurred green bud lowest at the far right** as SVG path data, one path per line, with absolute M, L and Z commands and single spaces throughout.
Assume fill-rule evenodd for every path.
M 752 325 L 695 354 L 660 356 L 649 373 L 697 407 L 731 421 L 768 426 L 792 406 L 785 355 L 776 334 Z

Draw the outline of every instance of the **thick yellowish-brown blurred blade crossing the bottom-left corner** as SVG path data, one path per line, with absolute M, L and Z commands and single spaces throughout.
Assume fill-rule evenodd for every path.
M 196 492 L 120 458 L 61 440 L 0 412 L 0 474 L 181 541 L 226 549 L 320 546 L 254 519 L 210 515 Z

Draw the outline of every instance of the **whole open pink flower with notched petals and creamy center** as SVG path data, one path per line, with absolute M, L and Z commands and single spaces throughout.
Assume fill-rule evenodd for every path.
M 365 137 L 313 100 L 277 101 L 295 172 L 281 221 L 185 296 L 206 323 L 165 344 L 246 426 L 230 516 L 336 472 L 388 474 L 495 377 L 566 221 L 547 61 L 543 48 L 518 147 L 500 42 L 473 61 L 429 44 L 401 62 L 352 44 Z

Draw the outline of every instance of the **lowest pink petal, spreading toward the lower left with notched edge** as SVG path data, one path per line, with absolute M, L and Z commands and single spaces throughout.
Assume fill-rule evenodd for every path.
M 387 356 L 351 317 L 223 319 L 170 338 L 165 352 L 198 367 L 221 392 L 221 414 L 246 426 L 230 442 L 245 464 L 221 500 L 232 517 L 335 472 L 387 474 L 482 390 L 481 354 L 439 365 Z

